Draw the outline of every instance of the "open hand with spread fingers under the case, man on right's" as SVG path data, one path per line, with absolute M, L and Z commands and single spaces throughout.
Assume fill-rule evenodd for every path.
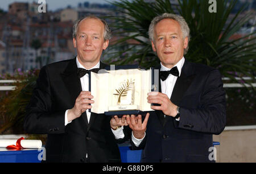
M 147 113 L 143 123 L 142 123 L 142 117 L 141 115 L 138 115 L 138 117 L 135 117 L 135 115 L 127 115 L 126 121 L 131 130 L 133 130 L 133 135 L 137 139 L 142 139 L 144 137 L 144 132 L 147 128 L 147 121 L 149 117 L 149 113 Z

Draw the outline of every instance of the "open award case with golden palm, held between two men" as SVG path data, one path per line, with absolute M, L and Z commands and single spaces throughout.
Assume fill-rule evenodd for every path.
M 90 111 L 105 115 L 152 111 L 147 93 L 158 91 L 156 77 L 154 69 L 144 70 L 138 65 L 110 66 L 98 73 L 91 72 L 89 90 L 94 103 Z

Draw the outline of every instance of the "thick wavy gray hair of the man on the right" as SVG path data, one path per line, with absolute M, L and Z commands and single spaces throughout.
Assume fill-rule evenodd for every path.
M 155 26 L 156 26 L 156 24 L 158 24 L 163 19 L 174 19 L 174 20 L 176 20 L 180 24 L 183 39 L 188 37 L 188 43 L 189 43 L 189 40 L 190 40 L 189 32 L 190 32 L 190 30 L 189 30 L 187 22 L 185 21 L 183 16 L 175 15 L 175 14 L 171 14 L 171 13 L 164 13 L 162 15 L 156 16 L 151 21 L 150 27 L 148 28 L 148 35 L 149 35 L 150 41 L 152 41 L 154 43 L 154 41 L 155 41 L 154 40 Z M 187 46 L 187 48 L 184 49 L 184 55 L 187 52 L 188 52 L 188 46 Z

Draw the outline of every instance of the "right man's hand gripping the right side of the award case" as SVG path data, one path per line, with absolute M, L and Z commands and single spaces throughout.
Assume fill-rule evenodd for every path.
M 177 106 L 171 102 L 166 94 L 150 92 L 148 93 L 147 102 L 159 104 L 160 106 L 151 106 L 151 109 L 162 110 L 167 116 L 175 117 L 177 115 Z

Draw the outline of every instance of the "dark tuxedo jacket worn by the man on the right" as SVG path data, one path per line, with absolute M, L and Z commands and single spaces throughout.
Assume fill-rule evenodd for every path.
M 220 134 L 226 123 L 220 72 L 185 60 L 170 100 L 180 106 L 180 120 L 164 118 L 159 110 L 150 112 L 143 142 L 139 147 L 131 142 L 135 150 L 143 149 L 141 161 L 210 162 L 212 134 Z

